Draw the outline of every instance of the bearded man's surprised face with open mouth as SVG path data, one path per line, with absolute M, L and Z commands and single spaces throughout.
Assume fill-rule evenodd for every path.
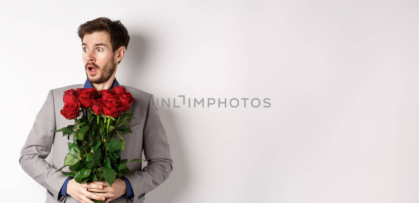
M 111 37 L 105 31 L 85 34 L 81 45 L 84 68 L 91 83 L 104 83 L 116 69 L 116 60 L 112 52 Z

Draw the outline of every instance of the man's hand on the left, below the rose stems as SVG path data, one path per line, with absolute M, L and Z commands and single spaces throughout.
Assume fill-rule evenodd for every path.
M 122 180 L 122 182 L 124 182 L 124 180 Z M 103 188 L 103 186 L 92 182 L 86 182 L 82 185 L 76 182 L 73 178 L 67 183 L 67 195 L 72 196 L 80 203 L 94 203 L 89 198 L 104 201 L 105 197 L 103 197 L 103 195 L 97 195 L 97 193 L 92 193 L 92 191 L 94 190 L 92 188 L 97 188 L 98 190 L 100 190 L 101 188 Z

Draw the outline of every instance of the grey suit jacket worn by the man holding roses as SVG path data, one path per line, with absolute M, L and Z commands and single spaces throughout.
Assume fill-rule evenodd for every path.
M 121 86 L 118 83 L 118 86 Z M 171 159 L 166 130 L 164 129 L 158 109 L 155 105 L 153 94 L 139 89 L 123 86 L 132 94 L 135 101 L 132 103 L 130 113 L 135 117 L 128 125 L 132 133 L 123 135 L 126 142 L 125 150 L 121 152 L 121 159 L 143 159 L 144 149 L 147 166 L 142 169 L 141 162 L 132 162 L 127 165 L 131 174 L 126 177 L 132 185 L 134 199 L 119 197 L 112 203 L 142 203 L 145 194 L 162 184 L 171 173 L 173 160 Z M 67 179 L 57 169 L 64 165 L 64 158 L 68 151 L 68 142 L 72 142 L 61 132 L 51 132 L 67 125 L 74 124 L 74 120 L 67 120 L 60 114 L 64 106 L 62 95 L 71 88 L 83 88 L 83 84 L 70 85 L 49 91 L 47 99 L 35 118 L 34 125 L 21 150 L 19 163 L 22 169 L 36 182 L 47 189 L 46 203 L 66 202 L 77 203 L 70 195 L 59 195 L 59 191 Z M 50 154 L 52 152 L 52 154 Z M 50 155 L 49 155 L 50 154 Z M 52 156 L 51 163 L 45 161 L 47 156 Z M 72 172 L 69 167 L 62 169 Z M 54 174 L 52 174 L 54 173 Z

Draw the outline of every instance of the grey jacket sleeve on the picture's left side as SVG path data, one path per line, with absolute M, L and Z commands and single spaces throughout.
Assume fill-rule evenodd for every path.
M 47 189 L 49 198 L 63 202 L 65 196 L 59 195 L 59 192 L 68 176 L 54 173 L 57 169 L 45 161 L 54 141 L 55 133 L 51 130 L 56 129 L 55 124 L 54 97 L 50 90 L 22 147 L 19 164 L 23 171 Z

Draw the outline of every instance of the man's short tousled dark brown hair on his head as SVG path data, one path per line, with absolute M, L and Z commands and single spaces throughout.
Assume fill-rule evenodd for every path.
M 94 20 L 87 21 L 81 24 L 77 29 L 77 34 L 83 42 L 83 37 L 85 34 L 92 34 L 96 31 L 106 31 L 110 34 L 112 52 L 115 52 L 116 49 L 118 49 L 121 46 L 125 46 L 125 49 L 128 48 L 128 30 L 121 23 L 121 21 L 111 21 L 111 19 L 105 17 L 96 18 Z

